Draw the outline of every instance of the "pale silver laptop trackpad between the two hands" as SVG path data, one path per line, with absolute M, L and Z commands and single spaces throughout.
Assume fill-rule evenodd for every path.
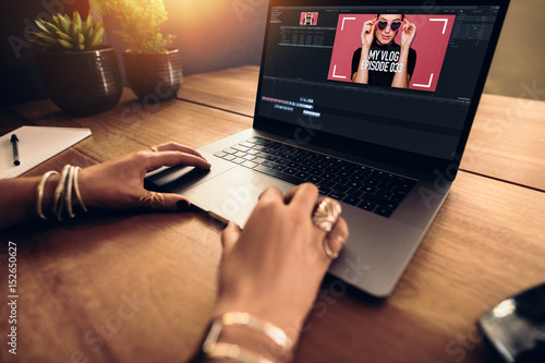
M 293 187 L 257 171 L 235 167 L 185 191 L 183 195 L 203 210 L 243 227 L 261 193 L 271 185 L 280 187 L 283 193 Z

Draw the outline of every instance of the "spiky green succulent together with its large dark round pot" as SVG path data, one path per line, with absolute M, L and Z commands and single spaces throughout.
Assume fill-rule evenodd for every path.
M 89 116 L 114 108 L 123 90 L 116 51 L 101 46 L 104 27 L 92 14 L 78 12 L 36 20 L 40 33 L 29 32 L 41 50 L 36 53 L 51 100 L 71 116 Z

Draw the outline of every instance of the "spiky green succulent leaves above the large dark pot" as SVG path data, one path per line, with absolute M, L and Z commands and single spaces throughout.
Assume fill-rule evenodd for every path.
M 28 32 L 37 39 L 33 43 L 47 50 L 82 51 L 97 48 L 102 43 L 104 26 L 100 21 L 87 15 L 83 21 L 76 11 L 70 17 L 68 14 L 53 15 L 53 22 L 36 20 L 40 33 Z

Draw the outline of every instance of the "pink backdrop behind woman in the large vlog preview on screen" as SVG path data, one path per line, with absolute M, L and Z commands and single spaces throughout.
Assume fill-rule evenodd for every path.
M 375 14 L 339 15 L 328 80 L 351 82 L 352 56 L 354 50 L 361 47 L 360 34 L 363 23 L 375 16 Z M 455 17 L 456 15 L 405 16 L 408 21 L 416 25 L 416 36 L 411 46 L 416 51 L 416 66 L 409 88 L 434 92 L 437 87 Z M 397 44 L 399 44 L 399 38 L 398 34 Z M 429 87 L 426 87 L 428 84 Z

